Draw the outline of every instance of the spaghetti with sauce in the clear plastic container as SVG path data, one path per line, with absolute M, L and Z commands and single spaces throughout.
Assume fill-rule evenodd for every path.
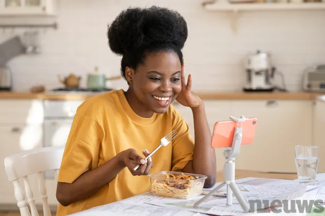
M 191 175 L 164 174 L 164 179 L 154 179 L 151 192 L 157 196 L 187 199 L 202 193 L 203 182 Z

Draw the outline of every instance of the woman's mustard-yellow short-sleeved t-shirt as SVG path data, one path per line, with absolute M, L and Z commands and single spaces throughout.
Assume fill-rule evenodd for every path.
M 152 155 L 150 173 L 181 171 L 192 160 L 194 143 L 189 127 L 173 105 L 164 114 L 138 116 L 123 90 L 113 90 L 84 101 L 77 110 L 64 150 L 58 182 L 73 183 L 82 173 L 99 167 L 119 152 L 133 148 L 152 152 L 172 130 L 178 135 Z M 125 167 L 108 185 L 90 198 L 67 207 L 58 205 L 57 216 L 115 202 L 150 190 L 150 177 L 133 176 Z

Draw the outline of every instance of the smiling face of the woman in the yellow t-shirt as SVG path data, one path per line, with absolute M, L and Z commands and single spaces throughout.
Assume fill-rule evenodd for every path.
M 132 77 L 130 87 L 144 112 L 165 113 L 182 89 L 181 62 L 174 52 L 147 55 Z

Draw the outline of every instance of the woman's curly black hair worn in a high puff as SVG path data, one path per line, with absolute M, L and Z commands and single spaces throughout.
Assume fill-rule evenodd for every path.
M 125 67 L 137 69 L 148 53 L 175 52 L 183 65 L 187 24 L 178 12 L 167 8 L 128 8 L 108 25 L 107 37 L 112 52 L 122 55 L 121 75 L 126 80 Z

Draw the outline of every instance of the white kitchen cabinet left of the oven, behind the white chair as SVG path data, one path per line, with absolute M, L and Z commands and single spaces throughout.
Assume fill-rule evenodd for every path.
M 43 146 L 43 101 L 0 100 L 0 160 L 12 154 Z M 37 188 L 36 188 L 37 189 Z M 16 205 L 13 184 L 0 169 L 0 203 Z

